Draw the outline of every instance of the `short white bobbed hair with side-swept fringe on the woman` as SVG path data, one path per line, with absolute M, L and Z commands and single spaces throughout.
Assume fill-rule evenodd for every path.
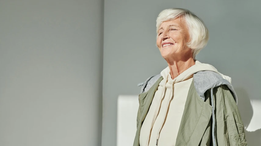
M 174 20 L 178 17 L 182 17 L 186 23 L 190 35 L 190 42 L 187 42 L 187 46 L 193 52 L 193 58 L 203 49 L 208 43 L 208 29 L 204 22 L 196 16 L 194 13 L 187 9 L 173 8 L 165 9 L 161 11 L 156 20 L 157 36 L 158 29 L 162 22 Z

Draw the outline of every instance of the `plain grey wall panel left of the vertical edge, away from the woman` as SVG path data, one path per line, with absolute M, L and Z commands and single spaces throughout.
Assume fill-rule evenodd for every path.
M 1 0 L 0 24 L 0 145 L 101 145 L 103 1 Z

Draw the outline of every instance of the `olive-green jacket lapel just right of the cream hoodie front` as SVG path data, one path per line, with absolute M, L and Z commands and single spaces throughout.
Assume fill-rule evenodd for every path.
M 212 106 L 205 103 L 198 96 L 193 79 L 179 126 L 176 145 L 198 145 L 208 126 L 211 115 Z

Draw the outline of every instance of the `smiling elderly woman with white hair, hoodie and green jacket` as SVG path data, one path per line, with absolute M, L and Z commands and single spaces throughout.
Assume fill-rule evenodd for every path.
M 166 9 L 156 26 L 168 67 L 138 85 L 133 146 L 246 146 L 231 78 L 195 59 L 208 42 L 203 21 L 187 9 Z

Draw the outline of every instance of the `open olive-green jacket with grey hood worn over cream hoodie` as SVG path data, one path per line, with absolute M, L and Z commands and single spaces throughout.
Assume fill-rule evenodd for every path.
M 147 79 L 143 85 L 142 93 L 139 95 L 140 106 L 137 113 L 137 131 L 133 146 L 140 146 L 141 126 L 154 93 L 163 79 L 158 75 L 156 80 L 154 78 L 155 81 L 151 83 L 149 82 L 151 78 Z M 221 78 L 220 75 L 212 71 L 200 71 L 194 74 L 176 137 L 176 146 L 247 145 L 244 125 L 237 108 L 236 94 L 232 85 Z M 211 90 L 213 94 L 211 94 Z M 212 111 L 212 107 L 214 107 L 214 111 Z M 215 128 L 212 128 L 213 126 Z

